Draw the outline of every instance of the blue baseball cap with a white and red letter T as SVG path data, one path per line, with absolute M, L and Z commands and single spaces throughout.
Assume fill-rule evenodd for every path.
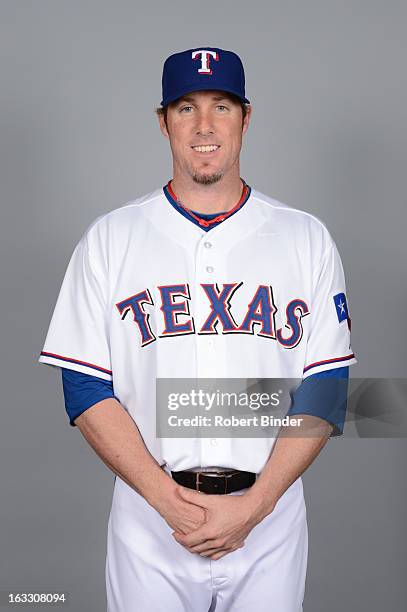
M 192 91 L 227 91 L 250 104 L 245 95 L 244 69 L 233 51 L 197 47 L 167 57 L 163 67 L 163 99 L 167 106 Z

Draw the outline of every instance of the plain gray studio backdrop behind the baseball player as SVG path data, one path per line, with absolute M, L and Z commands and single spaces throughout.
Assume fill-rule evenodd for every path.
M 405 377 L 404 2 L 1 0 L 0 590 L 105 609 L 111 472 L 36 363 L 71 252 L 100 214 L 163 185 L 161 68 L 237 51 L 253 102 L 242 176 L 318 215 L 345 268 L 359 363 Z M 306 612 L 404 609 L 405 440 L 333 439 L 304 477 Z M 20 607 L 23 609 L 23 607 Z M 278 611 L 276 611 L 278 612 Z

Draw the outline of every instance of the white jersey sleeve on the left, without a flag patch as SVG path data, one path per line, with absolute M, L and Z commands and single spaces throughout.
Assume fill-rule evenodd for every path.
M 107 283 L 85 234 L 76 246 L 59 292 L 40 363 L 112 380 Z

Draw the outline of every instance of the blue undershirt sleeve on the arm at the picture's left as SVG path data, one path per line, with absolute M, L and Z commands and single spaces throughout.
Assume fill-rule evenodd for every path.
M 74 420 L 82 412 L 104 399 L 115 397 L 111 381 L 67 368 L 61 368 L 61 372 L 65 410 L 72 427 L 76 427 Z

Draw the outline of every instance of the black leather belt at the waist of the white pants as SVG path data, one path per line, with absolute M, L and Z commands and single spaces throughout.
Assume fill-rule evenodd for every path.
M 256 474 L 233 470 L 231 472 L 171 472 L 178 484 L 211 495 L 225 495 L 247 489 L 256 482 Z

